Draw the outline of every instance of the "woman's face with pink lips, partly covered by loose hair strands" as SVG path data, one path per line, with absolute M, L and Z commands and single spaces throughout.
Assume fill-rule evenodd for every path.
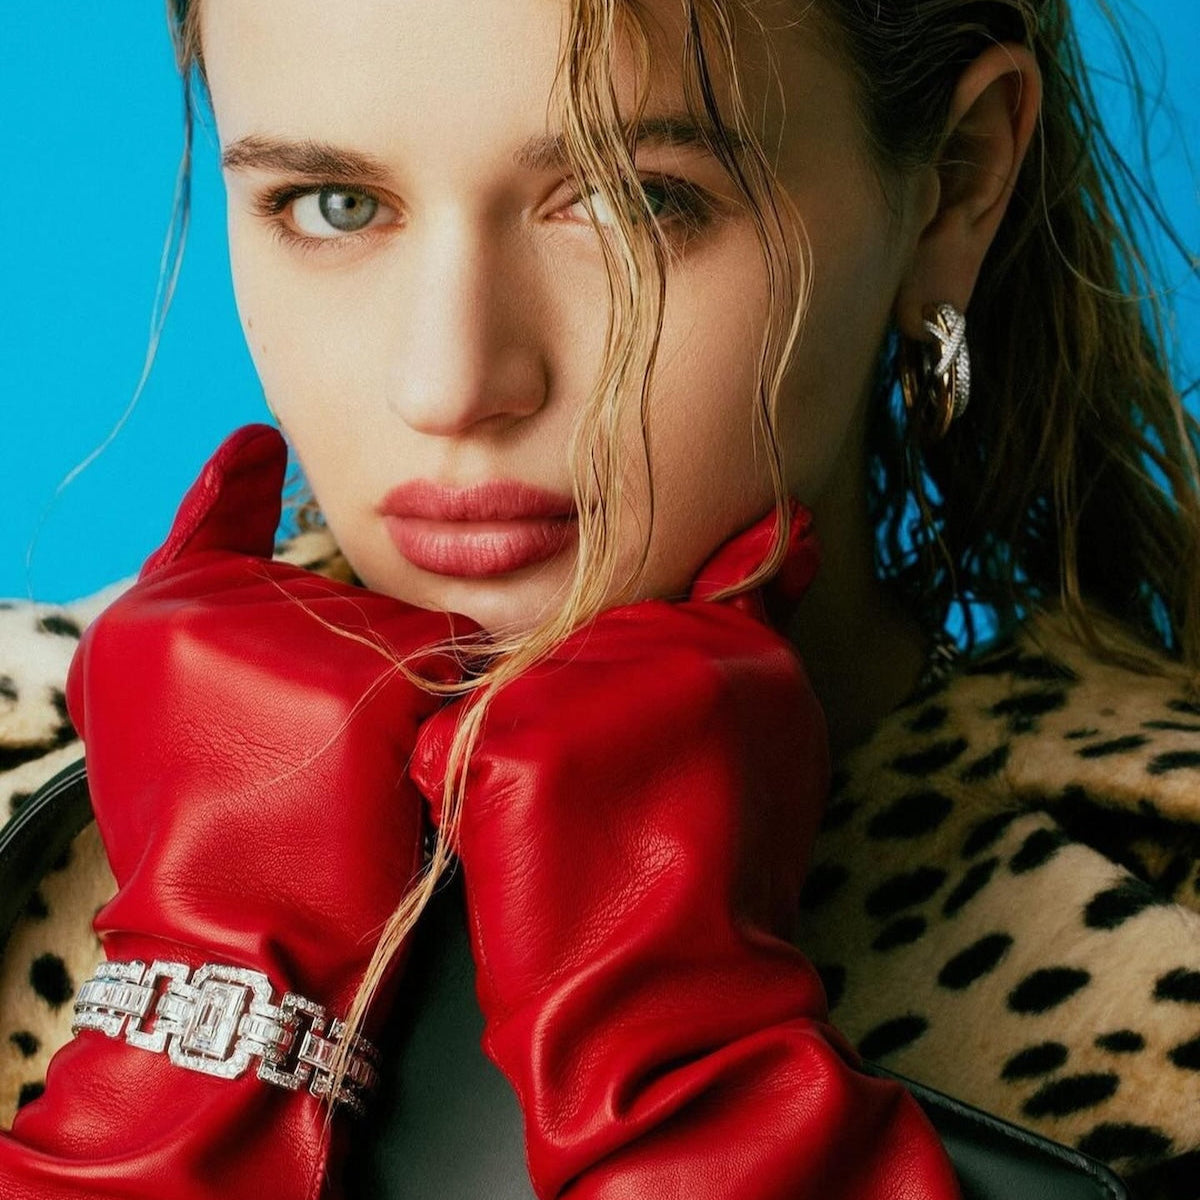
M 568 439 L 600 368 L 608 302 L 600 235 L 568 167 L 528 154 L 556 132 L 565 5 L 203 2 L 238 307 L 334 536 L 374 590 L 493 631 L 528 629 L 570 578 Z M 672 73 L 679 6 L 649 7 L 665 50 L 653 119 L 686 107 Z M 908 234 L 865 158 L 850 78 L 815 34 L 799 24 L 774 38 L 782 101 L 760 42 L 746 44 L 746 107 L 810 245 L 781 434 L 788 490 L 812 504 L 835 473 L 858 469 L 846 434 Z M 623 116 L 635 96 L 628 67 L 618 62 Z M 677 245 L 652 392 L 653 538 L 636 595 L 676 595 L 772 504 L 754 422 L 767 276 L 716 160 L 647 140 L 636 164 Z M 664 192 L 664 176 L 679 190 Z M 686 238 L 682 188 L 697 198 Z M 648 512 L 636 414 L 624 436 L 632 563 Z M 425 486 L 401 497 L 407 516 L 382 511 L 414 484 Z

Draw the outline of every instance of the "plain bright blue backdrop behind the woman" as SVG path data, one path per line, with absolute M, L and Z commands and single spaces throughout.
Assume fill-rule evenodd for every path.
M 1118 143 L 1136 154 L 1130 100 L 1106 82 L 1116 56 L 1093 4 L 1078 4 L 1085 52 Z M 1176 109 L 1152 107 L 1150 150 L 1154 181 L 1195 256 L 1200 204 L 1187 149 L 1200 133 L 1200 5 L 1116 4 L 1128 12 L 1151 92 L 1164 88 Z M 220 440 L 269 416 L 234 308 L 217 143 L 203 121 L 182 270 L 157 360 L 131 408 L 182 145 L 164 6 L 8 5 L 4 18 L 0 403 L 8 505 L 0 596 L 64 602 L 134 572 Z M 1180 377 L 1190 379 L 1200 286 L 1178 256 L 1164 260 L 1163 282 L 1183 286 Z

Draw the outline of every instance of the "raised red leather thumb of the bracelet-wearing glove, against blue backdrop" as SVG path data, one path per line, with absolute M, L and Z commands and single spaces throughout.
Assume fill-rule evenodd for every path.
M 270 558 L 287 460 L 287 443 L 274 426 L 234 430 L 187 490 L 167 540 L 142 564 L 138 580 L 204 550 Z

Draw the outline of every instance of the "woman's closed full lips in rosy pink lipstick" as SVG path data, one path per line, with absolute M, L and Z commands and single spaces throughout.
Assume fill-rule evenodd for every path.
M 570 496 L 516 480 L 449 487 L 413 480 L 379 512 L 397 551 L 434 575 L 485 578 L 553 558 L 575 538 Z

